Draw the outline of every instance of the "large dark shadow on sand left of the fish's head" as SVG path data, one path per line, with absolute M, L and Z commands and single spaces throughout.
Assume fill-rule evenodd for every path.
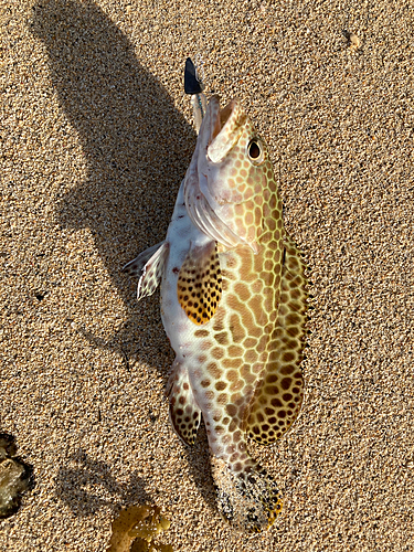
M 59 103 L 87 164 L 87 178 L 64 193 L 56 216 L 63 227 L 89 229 L 127 311 L 109 347 L 132 348 L 146 321 L 153 326 L 160 319 L 159 309 L 149 299 L 137 321 L 135 291 L 120 269 L 164 238 L 195 134 L 138 63 L 128 38 L 93 1 L 40 0 L 29 24 L 47 50 Z M 162 339 L 167 349 L 163 332 Z

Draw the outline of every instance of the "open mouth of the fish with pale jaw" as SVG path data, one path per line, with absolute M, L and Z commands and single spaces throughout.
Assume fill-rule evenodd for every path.
M 219 96 L 210 99 L 210 144 L 206 149 L 208 158 L 213 163 L 224 160 L 231 149 L 237 144 L 247 116 L 240 102 L 232 99 L 220 109 Z

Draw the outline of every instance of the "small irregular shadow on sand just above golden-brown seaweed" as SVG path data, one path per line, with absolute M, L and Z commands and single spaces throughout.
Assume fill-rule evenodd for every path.
M 104 506 L 115 511 L 129 505 L 151 503 L 145 481 L 136 473 L 128 484 L 119 484 L 107 464 L 91 459 L 82 449 L 68 459 L 67 466 L 60 467 L 55 492 L 78 517 L 91 516 Z

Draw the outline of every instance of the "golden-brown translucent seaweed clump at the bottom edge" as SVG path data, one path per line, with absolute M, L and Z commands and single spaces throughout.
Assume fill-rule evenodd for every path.
M 130 506 L 115 518 L 107 552 L 173 552 L 171 544 L 152 542 L 169 527 L 158 506 Z

